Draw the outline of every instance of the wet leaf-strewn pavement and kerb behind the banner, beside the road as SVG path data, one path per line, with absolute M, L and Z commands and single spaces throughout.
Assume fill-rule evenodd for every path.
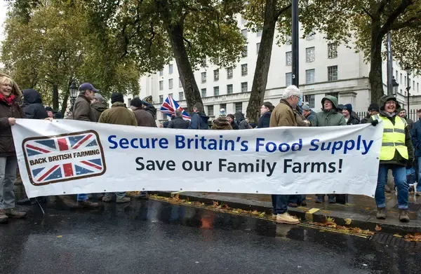
M 258 210 L 267 213 L 272 212 L 272 202 L 270 195 L 262 194 L 238 194 L 238 193 L 201 193 L 201 192 L 175 192 L 180 199 L 189 199 L 190 201 L 200 201 L 202 203 L 212 204 L 213 201 L 226 203 L 229 207 L 239 208 L 241 210 Z M 159 196 L 173 196 L 171 192 L 158 192 Z M 397 208 L 396 192 L 386 193 L 387 219 L 379 220 L 375 218 L 376 205 L 373 198 L 367 196 L 348 196 L 348 203 L 329 204 L 326 201 L 323 204 L 315 203 L 315 196 L 307 196 L 307 205 L 305 207 L 289 207 L 288 212 L 299 217 L 302 220 L 322 222 L 330 217 L 335 222 L 344 226 L 349 219 L 352 220 L 352 226 L 361 229 L 375 231 L 376 225 L 387 233 L 415 233 L 421 232 L 421 196 L 415 196 L 410 193 L 409 223 L 399 221 L 399 210 Z

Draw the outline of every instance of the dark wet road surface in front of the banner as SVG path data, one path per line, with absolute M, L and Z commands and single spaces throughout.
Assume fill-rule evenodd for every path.
M 156 200 L 39 207 L 0 226 L 0 273 L 419 273 L 421 249 Z

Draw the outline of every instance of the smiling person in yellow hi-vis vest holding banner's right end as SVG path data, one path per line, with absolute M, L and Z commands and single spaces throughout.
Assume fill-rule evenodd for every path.
M 396 113 L 400 106 L 394 96 L 383 96 L 380 98 L 379 106 L 380 113 L 371 116 L 368 120 L 368 123 L 373 125 L 382 121 L 384 126 L 379 175 L 375 190 L 376 217 L 377 219 L 386 219 L 385 184 L 387 184 L 387 171 L 391 169 L 398 188 L 399 221 L 408 222 L 409 186 L 406 181 L 406 166 L 413 165 L 414 160 L 410 132 L 405 119 Z

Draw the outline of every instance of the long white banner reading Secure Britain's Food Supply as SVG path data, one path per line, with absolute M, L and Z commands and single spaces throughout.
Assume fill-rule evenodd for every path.
M 382 124 L 173 130 L 18 119 L 29 197 L 114 191 L 374 196 Z

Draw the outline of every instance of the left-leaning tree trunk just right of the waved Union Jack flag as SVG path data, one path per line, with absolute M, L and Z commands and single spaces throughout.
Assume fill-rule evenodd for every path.
M 201 100 L 199 88 L 197 87 L 196 79 L 194 78 L 192 64 L 190 64 L 189 56 L 187 55 L 183 40 L 182 24 L 179 22 L 168 25 L 167 32 L 171 41 L 171 47 L 173 48 L 178 73 L 180 74 L 182 88 L 184 89 L 185 98 L 187 100 L 187 109 L 192 113 L 194 104 L 198 102 L 203 104 L 203 102 Z

